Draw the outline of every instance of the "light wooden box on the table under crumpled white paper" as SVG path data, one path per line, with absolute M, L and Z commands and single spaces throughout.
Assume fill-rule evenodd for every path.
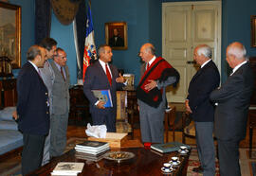
M 127 140 L 127 133 L 107 132 L 106 138 L 88 137 L 88 140 L 108 142 L 110 148 L 120 148 Z

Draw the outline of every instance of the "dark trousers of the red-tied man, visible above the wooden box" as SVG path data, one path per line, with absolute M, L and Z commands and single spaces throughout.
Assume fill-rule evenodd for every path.
M 93 125 L 106 125 L 107 132 L 116 132 L 116 116 L 113 108 L 92 111 Z

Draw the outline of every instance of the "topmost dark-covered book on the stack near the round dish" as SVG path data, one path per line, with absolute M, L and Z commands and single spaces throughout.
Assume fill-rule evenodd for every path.
M 76 148 L 81 150 L 99 151 L 99 150 L 109 148 L 109 144 L 106 142 L 99 142 L 99 141 L 85 141 L 82 144 L 77 144 Z

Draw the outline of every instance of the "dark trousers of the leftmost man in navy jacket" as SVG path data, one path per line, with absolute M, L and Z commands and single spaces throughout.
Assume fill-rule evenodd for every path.
M 23 133 L 22 174 L 41 167 L 46 135 Z

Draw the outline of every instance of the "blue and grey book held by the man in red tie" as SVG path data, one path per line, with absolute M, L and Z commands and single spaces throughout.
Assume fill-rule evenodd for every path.
M 92 90 L 93 95 L 98 98 L 98 100 L 103 101 L 104 107 L 109 108 L 113 107 L 112 98 L 110 90 Z

